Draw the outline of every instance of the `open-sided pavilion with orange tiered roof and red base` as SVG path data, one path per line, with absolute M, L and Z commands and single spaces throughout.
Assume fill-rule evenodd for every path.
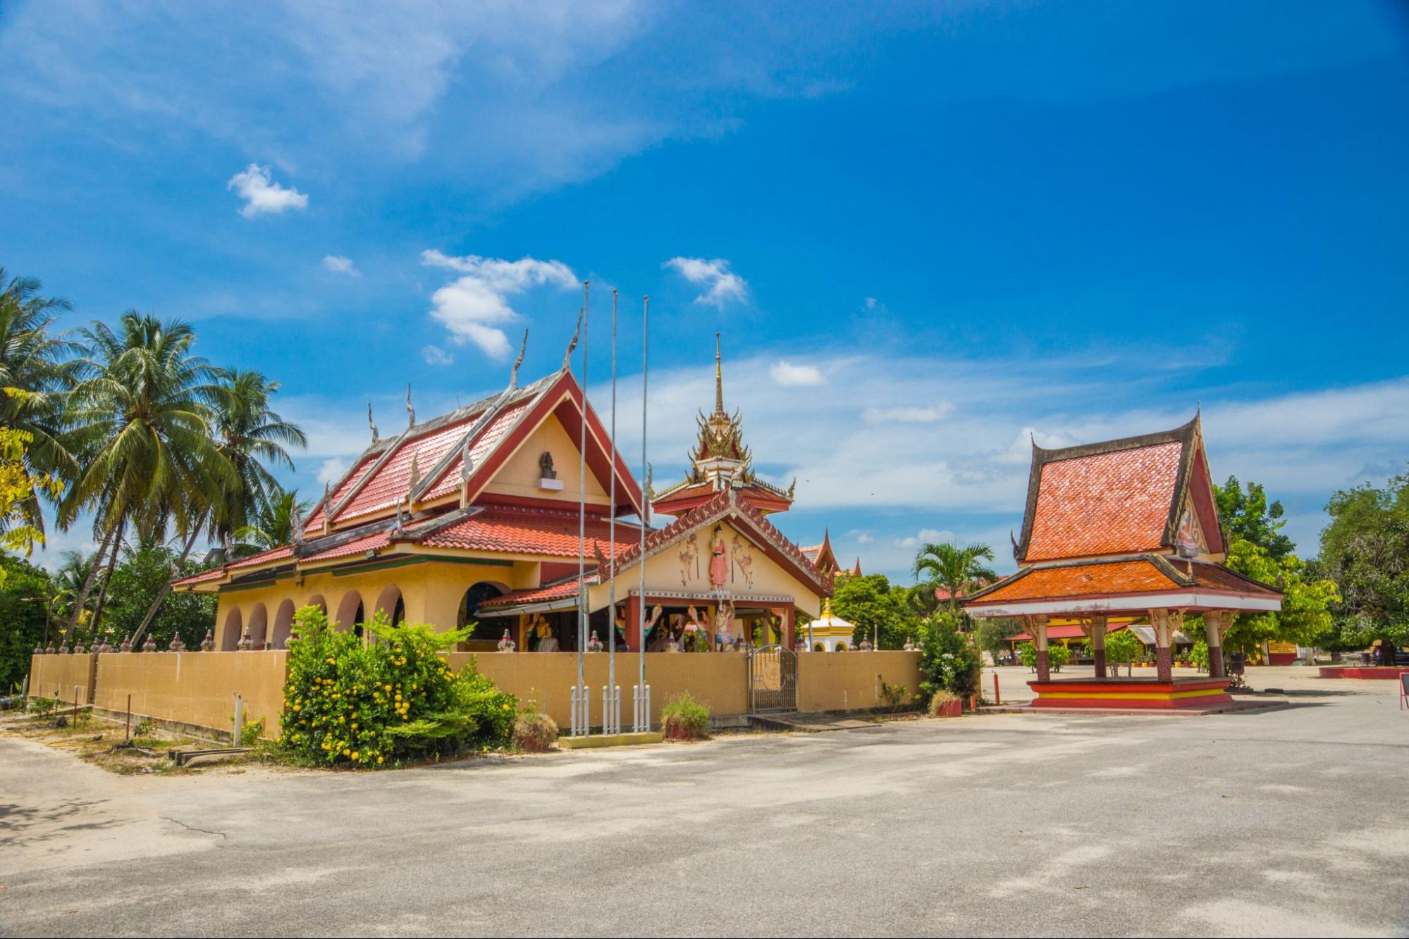
M 1281 610 L 1282 594 L 1223 565 L 1226 545 L 1198 415 L 1184 427 L 1102 443 L 1033 443 L 1017 573 L 976 591 L 971 617 L 1020 618 L 1037 649 L 1033 707 L 1208 708 L 1227 704 L 1223 635 L 1239 612 Z M 1144 618 L 1155 676 L 1106 674 L 1107 625 Z M 1206 679 L 1172 676 L 1172 636 L 1202 617 Z M 1053 680 L 1053 621 L 1091 638 L 1095 679 Z M 1191 624 L 1192 625 L 1192 624 Z

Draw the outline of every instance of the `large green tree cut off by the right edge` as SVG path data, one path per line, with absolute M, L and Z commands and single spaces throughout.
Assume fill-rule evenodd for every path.
M 1327 645 L 1409 645 L 1409 474 L 1337 491 L 1317 570 L 1340 586 Z

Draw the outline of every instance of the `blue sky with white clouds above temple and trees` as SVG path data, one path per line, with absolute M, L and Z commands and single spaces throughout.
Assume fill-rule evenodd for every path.
M 390 10 L 390 8 L 389 8 Z M 1315 553 L 1409 460 L 1401 4 L 0 6 L 0 265 L 283 384 L 302 491 L 621 310 L 620 435 L 726 394 L 802 543 L 1010 567 L 1027 441 L 1202 404 Z M 633 458 L 634 459 L 634 458 Z M 82 545 L 86 532 L 55 539 Z

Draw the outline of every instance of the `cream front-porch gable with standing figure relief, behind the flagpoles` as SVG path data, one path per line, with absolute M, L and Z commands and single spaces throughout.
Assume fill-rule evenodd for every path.
M 726 579 L 724 587 L 734 594 L 735 604 L 747 601 L 751 595 L 789 597 L 799 610 L 809 615 L 816 617 L 821 612 L 821 595 L 813 593 L 812 584 L 796 580 L 793 574 L 768 557 L 762 548 L 750 541 L 745 532 L 735 529 L 728 522 L 721 524 L 721 534 L 730 563 L 730 576 Z M 712 588 L 709 562 L 714 527 L 703 528 L 695 535 L 695 538 L 671 545 L 645 562 L 647 594 L 654 591 L 703 594 Z M 745 559 L 748 562 L 747 573 L 745 566 L 738 563 L 738 560 Z M 638 583 L 640 572 L 637 569 L 623 572 L 617 581 L 617 598 L 624 598 Z M 607 590 L 607 584 L 592 587 L 592 607 L 595 610 L 606 605 Z

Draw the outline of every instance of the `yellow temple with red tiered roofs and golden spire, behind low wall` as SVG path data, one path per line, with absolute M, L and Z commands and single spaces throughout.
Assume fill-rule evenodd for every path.
M 516 376 L 430 421 L 407 405 L 395 436 L 372 425 L 293 543 L 178 580 L 220 595 L 217 648 L 285 648 L 294 610 L 311 604 L 341 629 L 380 611 L 441 629 L 475 624 L 468 650 L 507 632 L 519 650 L 575 652 L 582 591 L 590 632 L 607 642 L 616 629 L 619 648 L 637 648 L 643 601 L 647 650 L 793 645 L 797 611 L 819 615 L 831 579 L 766 518 L 793 490 L 754 476 L 738 415 L 723 407 L 717 351 L 716 407 L 700 415 L 689 474 L 654 500 L 676 518 L 648 528 L 644 549 L 634 519 L 645 496 L 566 358 L 526 387 Z

